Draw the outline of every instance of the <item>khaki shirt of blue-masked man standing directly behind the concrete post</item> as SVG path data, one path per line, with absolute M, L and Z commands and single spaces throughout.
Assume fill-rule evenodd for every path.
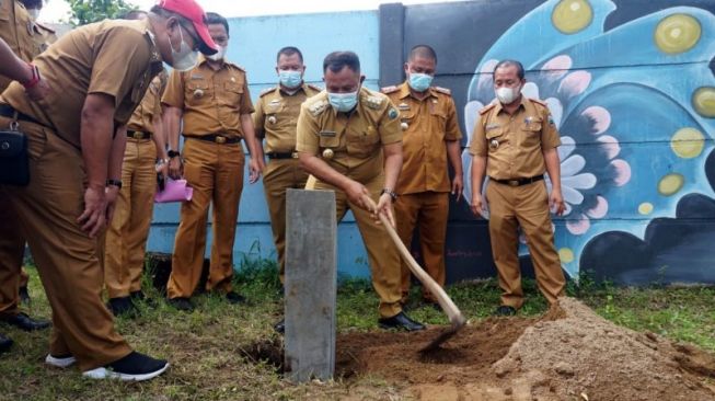
M 261 93 L 253 113 L 253 126 L 258 138 L 266 138 L 267 153 L 290 153 L 296 150 L 296 125 L 300 105 L 305 99 L 320 93 L 321 89 L 303 83 L 293 94 L 280 87 Z

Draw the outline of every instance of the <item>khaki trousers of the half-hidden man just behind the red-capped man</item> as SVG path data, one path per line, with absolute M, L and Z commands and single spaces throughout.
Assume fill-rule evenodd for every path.
M 141 290 L 147 238 L 157 190 L 157 147 L 151 139 L 127 138 L 122 190 L 105 239 L 104 284 L 109 298 Z

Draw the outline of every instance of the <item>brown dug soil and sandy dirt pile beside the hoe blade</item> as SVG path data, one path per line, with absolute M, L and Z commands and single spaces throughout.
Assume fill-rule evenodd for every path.
M 339 335 L 336 376 L 379 375 L 430 401 L 715 400 L 715 356 L 618 326 L 575 299 L 540 319 L 470 324 L 420 354 L 440 330 Z

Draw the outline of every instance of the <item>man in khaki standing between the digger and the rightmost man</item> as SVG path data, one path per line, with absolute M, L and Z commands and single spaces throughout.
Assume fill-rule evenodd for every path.
M 400 111 L 402 125 L 402 172 L 397 180 L 395 218 L 397 233 L 405 247 L 418 225 L 419 245 L 425 271 L 445 285 L 445 240 L 449 215 L 449 193 L 459 200 L 462 194 L 462 133 L 457 110 L 448 89 L 430 87 L 437 69 L 437 54 L 427 45 L 417 45 L 405 64 L 407 80 L 399 87 L 383 88 Z M 448 160 L 454 171 L 450 184 Z M 402 264 L 402 301 L 407 301 L 410 267 Z M 433 294 L 423 289 L 428 303 Z

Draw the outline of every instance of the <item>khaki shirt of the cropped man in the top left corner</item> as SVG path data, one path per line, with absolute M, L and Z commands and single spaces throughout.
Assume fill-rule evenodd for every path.
M 42 51 L 35 45 L 42 35 L 35 30 L 35 23 L 25 7 L 16 0 L 0 0 L 0 38 L 25 61 L 31 61 Z M 0 76 L 0 93 L 10 82 L 11 79 Z

